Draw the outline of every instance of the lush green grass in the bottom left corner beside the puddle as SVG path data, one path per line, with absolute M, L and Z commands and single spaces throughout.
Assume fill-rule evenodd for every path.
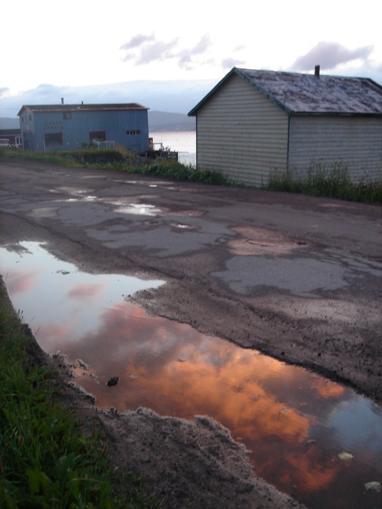
M 28 327 L 13 309 L 2 306 L 0 507 L 154 507 L 140 480 L 128 474 L 123 478 L 122 500 L 104 438 L 81 434 L 73 411 L 57 400 L 54 371 L 32 360 L 34 348 Z

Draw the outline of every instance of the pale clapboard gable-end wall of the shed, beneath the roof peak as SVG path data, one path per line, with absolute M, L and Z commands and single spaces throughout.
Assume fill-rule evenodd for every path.
M 248 185 L 286 169 L 287 113 L 250 83 L 232 75 L 197 114 L 197 165 Z

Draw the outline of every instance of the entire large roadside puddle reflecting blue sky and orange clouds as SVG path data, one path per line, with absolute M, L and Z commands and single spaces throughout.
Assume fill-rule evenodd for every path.
M 367 484 L 382 481 L 382 411 L 371 401 L 124 300 L 163 281 L 87 274 L 38 243 L 20 246 L 0 249 L 12 302 L 45 351 L 89 365 L 77 381 L 99 406 L 209 415 L 261 477 L 311 509 L 382 508 L 378 484 Z

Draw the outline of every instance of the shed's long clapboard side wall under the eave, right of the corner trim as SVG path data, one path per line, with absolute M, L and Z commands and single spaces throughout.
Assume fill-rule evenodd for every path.
M 341 162 L 353 180 L 382 175 L 382 118 L 291 116 L 289 168 L 301 172 L 312 162 Z

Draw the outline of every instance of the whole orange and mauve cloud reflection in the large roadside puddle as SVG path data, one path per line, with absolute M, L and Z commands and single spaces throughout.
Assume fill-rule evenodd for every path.
M 119 411 L 146 406 L 184 418 L 209 415 L 256 451 L 251 454 L 256 471 L 284 491 L 295 484 L 313 492 L 337 474 L 335 464 L 314 446 L 308 449 L 307 439 L 321 392 L 327 399 L 341 390 L 323 379 L 312 381 L 303 369 L 188 325 L 149 317 L 127 302 L 107 309 L 99 330 L 65 353 L 83 359 L 98 376 L 78 380 L 99 406 Z M 119 376 L 119 383 L 107 387 L 112 376 Z

